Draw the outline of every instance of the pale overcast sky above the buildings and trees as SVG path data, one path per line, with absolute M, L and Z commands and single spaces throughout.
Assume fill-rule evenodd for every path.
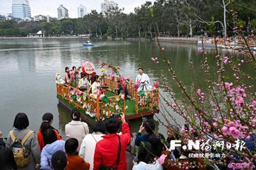
M 134 12 L 134 8 L 144 4 L 146 1 L 154 2 L 155 0 L 114 0 L 117 2 L 119 8 L 124 8 L 124 13 L 128 14 Z M 57 17 L 57 8 L 63 4 L 68 9 L 68 16 L 70 18 L 77 18 L 77 8 L 79 4 L 86 6 L 87 13 L 91 10 L 100 12 L 100 3 L 103 0 L 29 0 L 31 8 L 31 16 L 38 14 L 50 15 Z M 0 15 L 12 13 L 12 0 L 0 0 Z

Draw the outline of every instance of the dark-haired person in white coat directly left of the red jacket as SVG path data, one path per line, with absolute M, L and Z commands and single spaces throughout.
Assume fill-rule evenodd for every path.
M 96 121 L 92 127 L 92 132 L 87 134 L 82 141 L 79 156 L 90 163 L 90 170 L 93 170 L 96 143 L 103 139 L 101 136 L 105 135 L 105 130 L 105 124 L 102 121 Z

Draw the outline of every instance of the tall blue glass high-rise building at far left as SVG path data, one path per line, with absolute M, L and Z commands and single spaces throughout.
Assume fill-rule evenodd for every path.
M 28 0 L 12 0 L 12 16 L 14 18 L 31 18 Z

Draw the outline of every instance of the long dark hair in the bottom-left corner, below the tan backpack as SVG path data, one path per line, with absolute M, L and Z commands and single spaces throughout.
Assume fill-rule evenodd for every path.
M 17 170 L 13 152 L 10 148 L 0 147 L 0 167 L 1 170 Z

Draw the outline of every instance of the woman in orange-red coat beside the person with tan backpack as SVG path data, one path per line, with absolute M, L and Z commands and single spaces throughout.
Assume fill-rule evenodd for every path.
M 54 130 L 54 132 L 56 133 L 57 135 L 57 139 L 58 140 L 62 140 L 58 130 L 56 130 L 54 127 L 52 127 L 52 122 L 53 122 L 53 115 L 52 113 L 45 113 L 42 117 L 43 119 L 43 122 L 40 126 L 40 129 L 38 130 L 37 132 L 37 140 L 38 140 L 38 143 L 39 143 L 39 146 L 40 146 L 40 150 L 42 151 L 43 147 L 44 147 L 44 138 L 43 138 L 43 134 L 44 134 L 44 131 L 48 128 L 51 128 Z

